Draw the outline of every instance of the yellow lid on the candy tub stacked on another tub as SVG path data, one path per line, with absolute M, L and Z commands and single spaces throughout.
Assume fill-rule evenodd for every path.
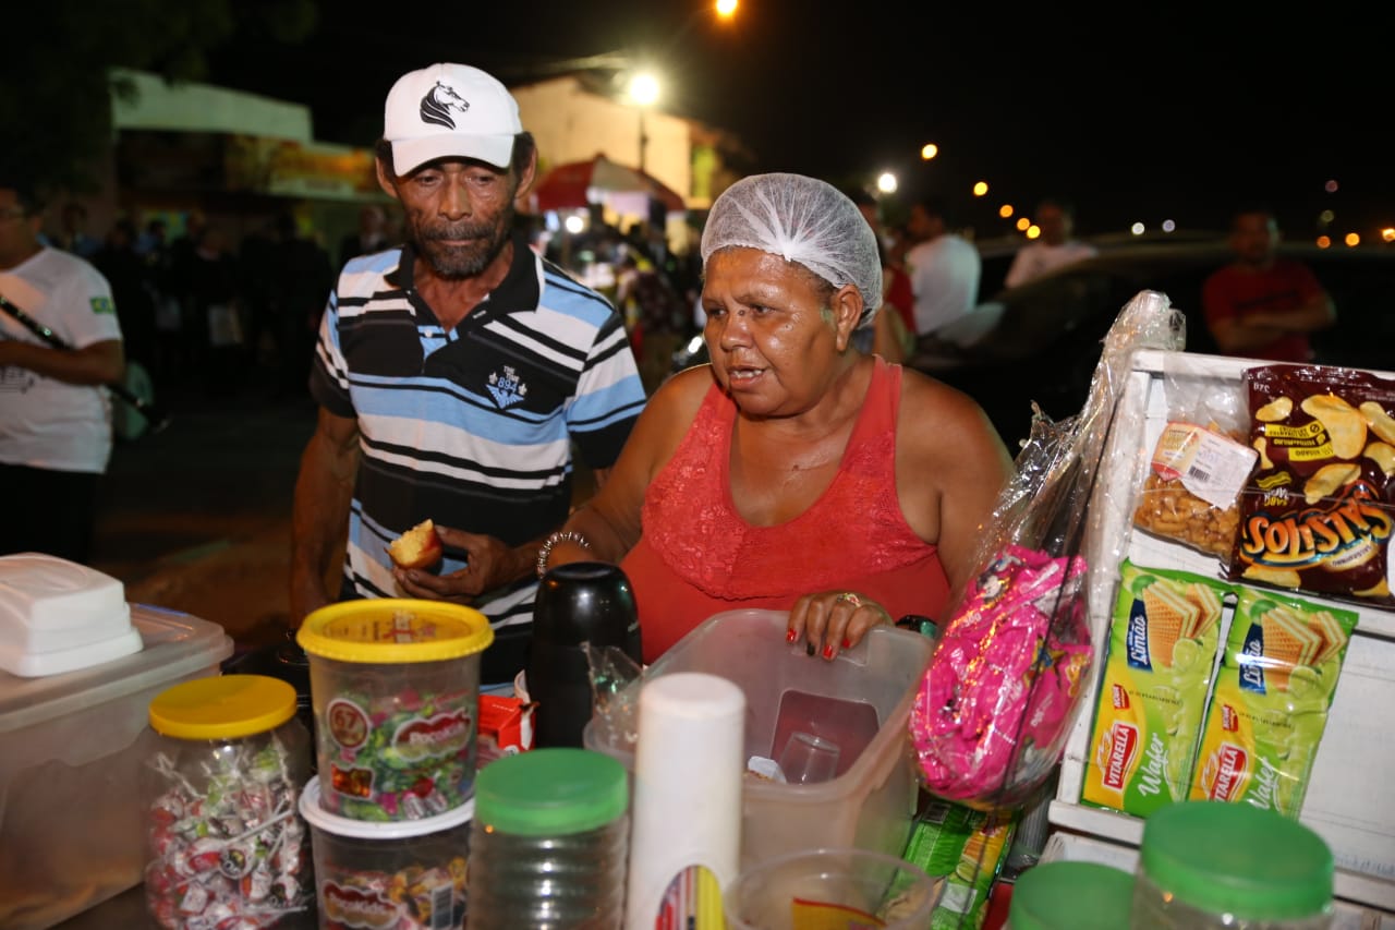
M 296 633 L 310 655 L 339 662 L 400 665 L 483 652 L 494 642 L 490 620 L 474 607 L 442 600 L 379 598 L 315 610 Z

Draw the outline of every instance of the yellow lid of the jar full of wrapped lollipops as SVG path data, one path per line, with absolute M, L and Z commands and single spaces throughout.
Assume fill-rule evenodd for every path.
M 265 733 L 296 715 L 296 688 L 265 674 L 223 674 L 166 688 L 151 700 L 151 726 L 183 740 Z

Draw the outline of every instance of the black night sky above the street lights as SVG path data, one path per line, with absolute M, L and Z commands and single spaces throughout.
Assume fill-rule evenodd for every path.
M 1389 24 L 1370 20 L 1388 14 L 741 0 L 720 24 L 698 0 L 412 6 L 396 18 L 388 4 L 372 20 L 350 7 L 325 3 L 300 46 L 223 49 L 211 80 L 307 102 L 318 138 L 367 145 L 403 71 L 455 60 L 520 84 L 625 50 L 660 60 L 663 109 L 737 133 L 763 170 L 841 183 L 893 169 L 907 190 L 979 216 L 1060 194 L 1085 235 L 1163 219 L 1218 229 L 1256 200 L 1290 237 L 1317 232 L 1322 209 L 1332 232 L 1367 242 L 1395 225 Z M 922 163 L 928 141 L 940 155 Z M 982 201 L 976 180 L 990 186 Z

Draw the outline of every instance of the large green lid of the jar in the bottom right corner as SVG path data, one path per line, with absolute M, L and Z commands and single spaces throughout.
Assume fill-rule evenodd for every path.
M 1168 804 L 1144 822 L 1143 871 L 1163 892 L 1242 920 L 1324 913 L 1332 850 L 1303 824 L 1243 802 Z

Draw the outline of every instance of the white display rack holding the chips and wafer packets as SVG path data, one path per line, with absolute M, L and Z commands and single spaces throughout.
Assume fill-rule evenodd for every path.
M 1117 596 L 1117 561 L 1222 577 L 1215 557 L 1133 531 L 1137 489 L 1154 444 L 1169 420 L 1166 388 L 1242 391 L 1246 369 L 1267 362 L 1138 352 L 1110 434 L 1099 486 L 1091 500 L 1087 556 L 1091 573 L 1088 619 L 1098 656 L 1084 707 L 1066 744 L 1046 856 L 1089 859 L 1133 867 L 1144 820 L 1080 803 L 1089 762 L 1095 707 L 1109 621 Z M 1373 374 L 1392 378 L 1391 373 Z M 1320 595 L 1293 592 L 1322 602 Z M 1395 612 L 1332 602 L 1360 614 L 1328 712 L 1299 820 L 1321 835 L 1336 860 L 1338 926 L 1395 927 Z M 1229 624 L 1230 607 L 1222 617 Z M 1222 634 L 1223 641 L 1223 634 Z M 1218 659 L 1219 660 L 1219 659 Z

